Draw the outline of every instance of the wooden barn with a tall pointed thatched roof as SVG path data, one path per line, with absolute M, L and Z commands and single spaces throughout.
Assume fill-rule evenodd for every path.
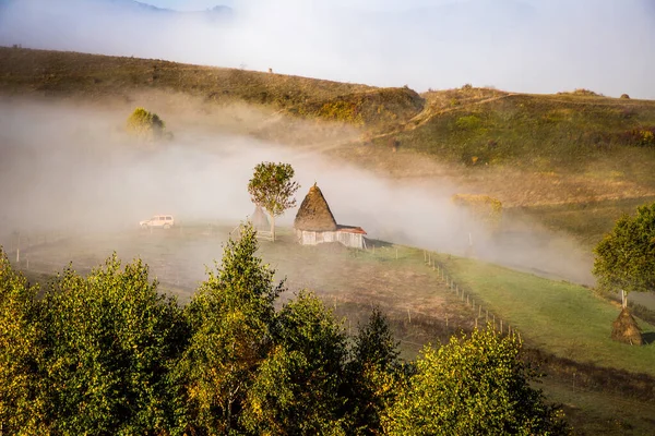
M 337 225 L 323 193 L 314 183 L 302 201 L 294 229 L 302 245 L 317 245 L 324 242 L 341 242 L 350 249 L 364 250 L 366 232 L 361 227 Z

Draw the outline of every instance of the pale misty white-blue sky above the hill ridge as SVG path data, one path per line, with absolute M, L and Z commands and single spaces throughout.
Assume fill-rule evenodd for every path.
M 650 0 L 215 4 L 226 3 L 231 13 L 155 12 L 129 0 L 1 0 L 0 44 L 272 68 L 417 90 L 472 83 L 514 92 L 584 87 L 655 98 Z

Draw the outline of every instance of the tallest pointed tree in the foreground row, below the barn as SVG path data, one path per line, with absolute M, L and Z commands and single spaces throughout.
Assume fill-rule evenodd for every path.
M 272 349 L 273 302 L 284 282 L 255 256 L 254 229 L 241 228 L 225 246 L 221 267 L 210 271 L 186 307 L 191 341 L 180 362 L 188 416 L 184 431 L 229 434 L 261 362 Z

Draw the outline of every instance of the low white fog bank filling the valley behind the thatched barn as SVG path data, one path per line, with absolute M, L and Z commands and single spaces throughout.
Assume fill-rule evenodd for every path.
M 315 182 L 337 222 L 360 226 L 370 239 L 463 255 L 473 238 L 483 259 L 590 281 L 590 254 L 571 239 L 529 222 L 505 222 L 492 239 L 453 206 L 450 196 L 461 191 L 448 180 L 390 180 L 311 147 L 175 122 L 172 141 L 138 143 L 123 133 L 128 113 L 127 104 L 0 100 L 0 244 L 10 250 L 14 232 L 121 234 L 155 214 L 171 214 L 182 226 L 236 226 L 254 209 L 247 192 L 253 167 L 272 160 L 294 166 L 298 206 Z M 191 117 L 179 107 L 158 113 Z M 295 214 L 276 222 L 290 227 Z M 205 254 L 187 261 L 201 267 L 211 263 Z

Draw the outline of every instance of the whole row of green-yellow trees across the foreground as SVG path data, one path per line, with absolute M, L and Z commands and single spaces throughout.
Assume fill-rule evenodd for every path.
M 191 302 L 115 254 L 31 287 L 0 249 L 0 424 L 8 434 L 561 434 L 520 343 L 492 331 L 401 362 L 373 310 L 348 337 L 285 290 L 251 226 Z

